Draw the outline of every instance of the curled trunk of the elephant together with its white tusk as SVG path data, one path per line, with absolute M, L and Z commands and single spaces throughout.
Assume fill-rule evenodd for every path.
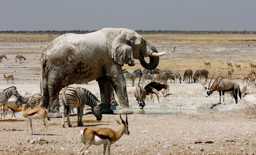
M 150 58 L 149 63 L 147 63 L 145 61 L 144 56 L 141 56 L 140 64 L 142 65 L 143 68 L 145 68 L 147 70 L 153 70 L 153 69 L 157 68 L 157 65 L 159 64 L 159 56 L 166 54 L 166 52 L 158 53 L 157 49 L 149 43 L 148 43 L 147 48 L 151 49 L 150 51 L 146 52 Z

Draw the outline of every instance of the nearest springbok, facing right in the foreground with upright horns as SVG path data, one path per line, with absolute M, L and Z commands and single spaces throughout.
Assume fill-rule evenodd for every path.
M 108 155 L 110 155 L 111 144 L 118 141 L 123 134 L 130 135 L 128 130 L 128 120 L 126 115 L 126 120 L 124 121 L 120 114 L 120 119 L 122 123 L 117 121 L 120 125 L 119 128 L 114 131 L 110 128 L 99 128 L 99 127 L 87 127 L 80 131 L 81 141 L 84 143 L 84 147 L 80 150 L 80 155 L 84 155 L 85 150 L 87 150 L 91 145 L 101 145 L 103 147 L 103 155 L 106 154 L 106 148 L 108 146 Z

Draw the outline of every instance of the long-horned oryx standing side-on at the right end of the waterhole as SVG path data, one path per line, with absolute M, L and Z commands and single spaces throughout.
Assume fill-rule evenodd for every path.
M 213 74 L 213 76 L 214 76 L 214 74 Z M 223 76 L 220 76 L 220 77 L 219 76 L 217 77 L 217 79 L 213 82 L 212 86 L 210 87 L 210 84 L 212 81 L 212 79 L 211 79 L 209 86 L 208 86 L 207 93 L 206 93 L 206 97 L 210 96 L 214 91 L 218 91 L 219 95 L 220 95 L 220 101 L 218 104 L 221 104 L 221 93 L 222 93 L 223 103 L 224 103 L 224 93 L 225 92 L 231 93 L 233 95 L 234 99 L 236 100 L 236 104 L 237 104 L 237 99 L 238 99 L 237 93 L 239 93 L 239 97 L 241 99 L 241 91 L 239 88 L 239 84 L 234 81 L 231 81 L 229 79 L 225 79 Z

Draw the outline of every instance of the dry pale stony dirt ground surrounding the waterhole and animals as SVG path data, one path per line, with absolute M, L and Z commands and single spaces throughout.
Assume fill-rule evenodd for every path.
M 150 41 L 150 40 L 149 40 Z M 14 84 L 6 84 L 0 80 L 0 91 L 7 87 L 16 86 L 22 96 L 30 96 L 40 92 L 40 57 L 43 47 L 49 42 L 0 42 L 0 54 L 7 54 L 7 59 L 0 62 L 0 75 L 13 74 Z M 177 45 L 172 51 L 171 45 L 156 45 L 158 51 L 167 51 L 166 56 L 160 59 L 159 68 L 180 72 L 191 68 L 193 72 L 205 68 L 204 61 L 211 61 L 209 78 L 214 72 L 225 76 L 226 62 L 237 62 L 242 65 L 241 71 L 236 70 L 233 75 L 235 81 L 241 85 L 241 77 L 249 73 L 249 62 L 255 60 L 256 48 L 247 45 Z M 15 54 L 23 54 L 26 60 L 15 62 Z M 139 63 L 139 62 L 137 62 Z M 254 62 L 255 63 L 255 62 Z M 124 68 L 128 68 L 125 66 Z M 141 68 L 140 65 L 133 70 Z M 209 81 L 208 78 L 208 81 Z M 202 78 L 204 81 L 204 78 Z M 137 81 L 136 81 L 137 82 Z M 10 81 L 9 81 L 10 83 Z M 148 82 L 147 82 L 148 83 Z M 114 155 L 169 155 L 169 154 L 256 154 L 256 88 L 248 87 L 247 95 L 235 104 L 232 97 L 225 96 L 225 104 L 217 106 L 218 93 L 205 98 L 205 92 L 198 83 L 181 84 L 168 83 L 170 93 L 163 98 L 160 104 L 147 101 L 147 110 L 159 108 L 200 109 L 204 111 L 185 112 L 181 114 L 131 114 L 128 115 L 130 135 L 123 137 L 111 146 Z M 135 87 L 127 83 L 129 104 L 138 108 L 133 97 Z M 73 85 L 85 87 L 99 97 L 99 87 L 96 81 L 89 85 Z M 241 88 L 240 88 L 241 89 Z M 13 98 L 11 98 L 13 99 Z M 164 110 L 163 110 L 164 111 Z M 159 110 L 158 110 L 159 112 Z M 125 116 L 122 116 L 123 118 Z M 10 118 L 7 116 L 7 118 Z M 115 119 L 119 115 L 103 115 L 102 121 L 88 114 L 83 117 L 84 127 L 77 127 L 76 116 L 70 117 L 73 127 L 61 128 L 61 118 L 51 118 L 48 135 L 41 140 L 44 126 L 40 120 L 33 120 L 35 135 L 26 133 L 26 120 L 22 116 L 9 120 L 0 120 L 0 154 L 6 155 L 37 155 L 37 154 L 65 154 L 76 155 L 83 146 L 79 137 L 80 130 L 85 127 L 118 128 Z M 40 138 L 38 138 L 40 139 Z M 86 154 L 102 154 L 103 146 L 92 146 Z

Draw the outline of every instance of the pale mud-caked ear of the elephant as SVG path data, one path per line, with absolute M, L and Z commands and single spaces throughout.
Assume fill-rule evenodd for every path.
M 113 40 L 111 57 L 120 65 L 128 64 L 134 66 L 133 37 L 129 37 L 126 31 L 121 33 Z

